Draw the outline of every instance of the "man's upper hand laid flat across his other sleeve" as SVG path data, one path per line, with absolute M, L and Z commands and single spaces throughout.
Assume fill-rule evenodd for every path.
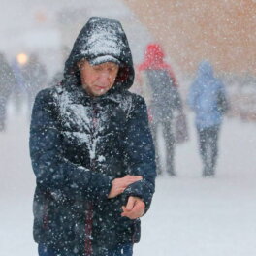
M 142 176 L 124 176 L 112 180 L 112 189 L 108 198 L 120 195 L 129 185 L 143 179 Z

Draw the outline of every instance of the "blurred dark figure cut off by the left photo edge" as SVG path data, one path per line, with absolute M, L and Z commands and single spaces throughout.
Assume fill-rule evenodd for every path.
M 6 112 L 8 99 L 12 93 L 16 79 L 3 53 L 0 53 L 0 131 L 6 129 Z

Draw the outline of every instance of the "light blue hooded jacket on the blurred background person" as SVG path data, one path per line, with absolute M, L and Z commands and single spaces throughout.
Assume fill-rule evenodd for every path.
M 197 78 L 190 87 L 188 104 L 196 113 L 199 129 L 220 125 L 223 108 L 227 108 L 226 91 L 222 81 L 214 77 L 208 61 L 202 61 L 198 67 Z

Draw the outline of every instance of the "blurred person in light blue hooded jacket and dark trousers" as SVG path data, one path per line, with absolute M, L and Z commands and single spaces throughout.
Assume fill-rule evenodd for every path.
M 228 110 L 228 102 L 225 87 L 214 77 L 208 61 L 202 61 L 198 67 L 197 78 L 190 87 L 188 104 L 196 114 L 203 176 L 214 176 L 219 129 L 223 113 Z

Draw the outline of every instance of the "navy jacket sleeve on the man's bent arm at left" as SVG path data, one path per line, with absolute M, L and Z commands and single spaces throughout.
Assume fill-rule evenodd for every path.
M 83 195 L 91 200 L 107 199 L 111 176 L 90 172 L 64 158 L 56 107 L 49 89 L 35 100 L 30 126 L 30 156 L 37 185 L 56 198 Z

